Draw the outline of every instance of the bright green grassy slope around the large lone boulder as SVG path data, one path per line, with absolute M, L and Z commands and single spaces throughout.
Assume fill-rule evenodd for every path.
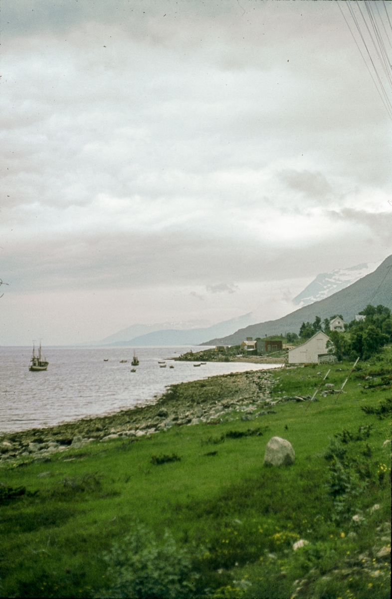
M 391 349 L 385 350 L 383 362 L 362 365 L 359 374 L 381 366 L 392 370 Z M 327 368 L 273 373 L 272 397 L 311 394 L 321 380 L 317 373 Z M 328 381 L 338 387 L 349 369 L 349 364 L 333 366 Z M 254 397 L 256 376 L 244 373 L 224 381 L 241 381 L 241 394 L 248 386 Z M 203 382 L 203 388 L 197 383 L 177 386 L 175 401 L 202 401 L 207 390 L 210 403 L 221 401 L 222 385 L 209 382 Z M 388 560 L 376 555 L 386 543 L 382 527 L 390 522 L 390 444 L 383 446 L 390 439 L 390 418 L 380 420 L 360 410 L 364 403 L 390 396 L 390 388 L 377 383 L 364 389 L 369 382 L 353 376 L 347 394 L 336 403 L 330 395 L 308 411 L 303 403 L 290 401 L 277 404 L 276 414 L 251 422 L 233 412 L 230 422 L 174 426 L 137 441 L 96 441 L 54 454 L 49 462 L 23 467 L 18 467 L 20 461 L 2 462 L 1 483 L 38 491 L 0 505 L 2 595 L 99 594 L 110 583 L 102 552 L 132 532 L 136 518 L 157 537 L 169 528 L 179 543 L 192 546 L 195 541 L 205 547 L 196 562 L 200 595 L 389 597 Z M 342 428 L 356 431 L 368 424 L 373 425 L 368 439 L 347 444 L 354 459 L 369 467 L 363 477 L 366 492 L 349 498 L 347 513 L 336 520 L 326 493 L 329 468 L 323 453 L 329 438 Z M 229 431 L 258 427 L 262 435 L 214 443 Z M 293 444 L 293 466 L 263 467 L 266 443 L 274 435 Z M 217 453 L 205 455 L 211 451 Z M 152 465 L 151 456 L 163 453 L 176 453 L 181 461 Z M 382 464 L 387 468 L 384 479 L 379 474 Z M 50 474 L 39 476 L 42 473 Z M 376 503 L 381 507 L 370 513 Z M 364 520 L 355 523 L 355 513 Z M 310 544 L 294 553 L 292 543 L 298 539 Z

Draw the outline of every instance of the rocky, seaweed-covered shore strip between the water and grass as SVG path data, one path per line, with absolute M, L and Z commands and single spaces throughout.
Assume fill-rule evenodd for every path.
M 275 369 L 274 369 L 275 370 Z M 248 371 L 172 385 L 154 404 L 121 410 L 48 428 L 0 434 L 0 467 L 50 461 L 53 453 L 80 449 L 88 443 L 152 435 L 172 426 L 253 420 L 274 413 L 276 403 L 304 398 L 272 399 L 276 381 L 271 371 Z

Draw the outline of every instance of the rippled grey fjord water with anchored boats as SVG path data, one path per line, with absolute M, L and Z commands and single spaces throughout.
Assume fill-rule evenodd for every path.
M 207 362 L 195 368 L 193 362 L 169 359 L 190 349 L 136 349 L 140 365 L 132 373 L 133 349 L 129 347 L 47 347 L 48 370 L 37 373 L 28 370 L 30 347 L 0 347 L 0 432 L 41 428 L 153 403 L 154 396 L 173 383 L 280 366 Z M 160 368 L 158 361 L 165 359 L 166 368 Z M 120 360 L 127 362 L 120 364 Z

